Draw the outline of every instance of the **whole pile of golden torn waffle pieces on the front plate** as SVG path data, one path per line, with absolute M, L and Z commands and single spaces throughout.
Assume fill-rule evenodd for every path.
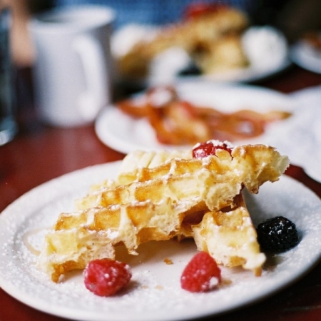
M 199 249 L 212 253 L 215 246 L 219 247 L 216 240 L 223 243 L 225 230 L 229 231 L 227 238 L 232 238 L 232 230 L 238 230 L 234 225 L 240 225 L 249 231 L 248 255 L 242 253 L 242 245 L 239 249 L 235 245 L 234 252 L 224 254 L 223 250 L 218 262 L 243 265 L 258 275 L 263 257 L 255 243 L 250 215 L 238 195 L 244 186 L 258 193 L 267 180 L 278 180 L 287 168 L 287 157 L 263 145 L 237 146 L 231 155 L 219 149 L 216 156 L 202 159 L 191 158 L 191 151 L 177 152 L 175 158 L 173 155 L 129 154 L 116 180 L 96 185 L 76 202 L 74 213 L 59 215 L 46 235 L 39 267 L 58 282 L 61 275 L 86 267 L 90 260 L 114 258 L 118 244 L 136 254 L 141 243 L 178 235 L 195 238 Z M 178 158 L 180 155 L 188 159 Z M 136 165 L 125 171 L 126 163 Z M 227 208 L 237 214 L 226 214 L 233 220 L 230 225 L 225 220 L 227 228 L 220 227 L 220 234 L 215 235 L 211 231 L 213 222 Z M 243 225 L 236 217 L 245 218 Z

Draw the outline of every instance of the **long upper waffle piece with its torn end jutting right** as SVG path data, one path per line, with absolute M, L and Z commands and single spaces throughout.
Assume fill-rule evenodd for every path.
M 133 183 L 115 188 L 101 188 L 78 200 L 79 209 L 123 204 L 163 197 L 184 202 L 197 198 L 210 210 L 233 203 L 235 195 L 245 186 L 258 193 L 260 185 L 278 180 L 289 164 L 275 148 L 245 145 L 233 148 L 232 154 L 219 149 L 216 156 L 203 159 L 173 158 L 155 168 L 136 168 L 126 175 Z

